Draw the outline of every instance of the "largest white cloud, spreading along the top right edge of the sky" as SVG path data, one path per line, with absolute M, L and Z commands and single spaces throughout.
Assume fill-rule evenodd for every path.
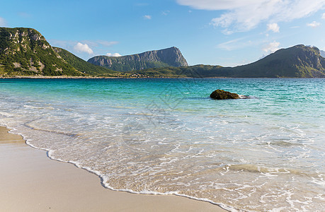
M 247 31 L 269 20 L 272 23 L 303 18 L 321 10 L 325 0 L 176 0 L 178 4 L 209 11 L 225 10 L 213 18 L 215 27 L 233 28 L 232 31 Z M 230 30 L 227 30 L 230 31 Z

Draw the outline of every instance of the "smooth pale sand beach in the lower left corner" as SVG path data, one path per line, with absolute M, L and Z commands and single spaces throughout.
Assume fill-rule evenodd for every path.
M 2 126 L 0 167 L 0 211 L 224 211 L 182 196 L 106 189 L 98 176 L 47 158 Z

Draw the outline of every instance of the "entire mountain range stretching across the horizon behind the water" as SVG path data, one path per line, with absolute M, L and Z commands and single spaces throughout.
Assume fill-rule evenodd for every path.
M 296 45 L 236 67 L 188 66 L 176 47 L 87 62 L 32 28 L 0 28 L 1 76 L 325 78 L 325 59 L 317 47 Z

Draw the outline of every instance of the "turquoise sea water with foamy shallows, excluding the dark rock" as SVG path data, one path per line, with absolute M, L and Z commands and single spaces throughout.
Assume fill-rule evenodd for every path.
M 249 96 L 211 100 L 224 89 Z M 0 79 L 0 124 L 110 189 L 325 210 L 324 79 Z

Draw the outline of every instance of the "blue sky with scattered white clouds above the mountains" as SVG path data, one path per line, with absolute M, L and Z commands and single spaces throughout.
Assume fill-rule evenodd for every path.
M 325 50 L 325 0 L 0 0 L 0 27 L 34 28 L 84 60 L 178 47 L 188 64 Z

